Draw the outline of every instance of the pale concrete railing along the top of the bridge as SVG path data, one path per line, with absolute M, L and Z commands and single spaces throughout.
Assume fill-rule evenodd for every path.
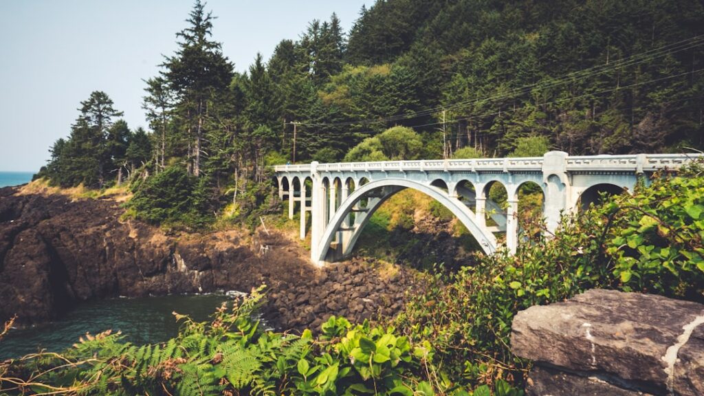
M 567 156 L 566 171 L 657 171 L 679 168 L 703 154 Z M 316 171 L 541 171 L 543 157 L 319 163 Z M 276 172 L 310 172 L 312 166 L 277 165 Z

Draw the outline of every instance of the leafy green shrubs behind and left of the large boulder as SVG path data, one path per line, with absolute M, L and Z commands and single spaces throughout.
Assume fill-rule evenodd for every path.
M 429 340 L 451 378 L 520 380 L 524 364 L 508 341 L 521 309 L 593 287 L 704 302 L 703 209 L 700 166 L 657 175 L 632 195 L 564 218 L 551 238 L 527 233 L 514 256 L 479 254 L 474 266 L 438 275 L 394 323 L 411 340 Z

